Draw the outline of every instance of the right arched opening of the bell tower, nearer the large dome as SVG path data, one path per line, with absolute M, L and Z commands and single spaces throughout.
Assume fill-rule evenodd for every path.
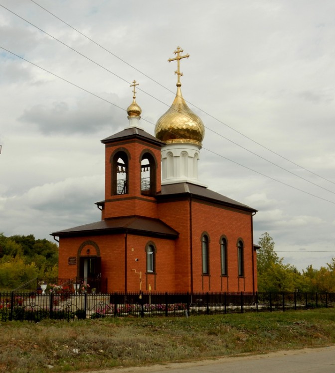
M 146 151 L 141 157 L 141 193 L 154 195 L 156 193 L 157 162 L 153 154 Z

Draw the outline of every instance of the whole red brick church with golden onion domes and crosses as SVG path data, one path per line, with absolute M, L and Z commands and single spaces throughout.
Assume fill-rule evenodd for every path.
M 105 197 L 101 220 L 53 232 L 60 279 L 86 281 L 102 292 L 255 292 L 253 216 L 243 203 L 198 179 L 202 120 L 182 93 L 177 48 L 175 98 L 156 123 L 141 128 L 133 101 L 128 125 L 103 140 Z

